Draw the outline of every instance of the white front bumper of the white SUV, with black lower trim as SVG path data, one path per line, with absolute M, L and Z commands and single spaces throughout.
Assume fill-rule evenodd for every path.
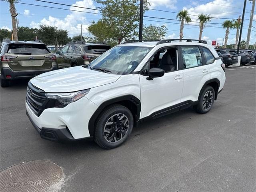
M 52 141 L 73 141 L 90 138 L 89 120 L 98 106 L 86 97 L 64 108 L 47 108 L 40 116 L 26 102 L 27 116 L 40 136 Z

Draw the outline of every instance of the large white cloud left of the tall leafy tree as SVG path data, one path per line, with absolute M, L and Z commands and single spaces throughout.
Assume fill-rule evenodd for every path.
M 82 0 L 77 1 L 76 3 L 72 4 L 73 6 L 80 6 L 80 7 L 87 7 L 87 8 L 96 8 L 94 6 L 94 3 L 92 0 Z M 78 8 L 78 7 L 70 7 L 72 10 L 78 10 L 78 11 L 88 11 L 84 8 Z M 43 18 L 39 23 L 31 22 L 30 26 L 32 28 L 39 28 L 40 25 L 50 25 L 50 26 L 56 26 L 59 29 L 64 29 L 68 31 L 69 36 L 78 35 L 81 33 L 81 26 L 82 24 L 82 32 L 83 34 L 87 33 L 88 30 L 88 22 L 86 21 L 86 13 L 83 12 L 76 12 L 76 11 L 70 11 L 71 13 L 68 14 L 64 19 L 55 18 L 52 16 L 49 16 L 48 18 Z M 98 11 L 90 10 L 90 12 L 97 13 Z

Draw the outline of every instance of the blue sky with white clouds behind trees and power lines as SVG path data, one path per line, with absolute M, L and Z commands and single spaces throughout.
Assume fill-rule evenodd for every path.
M 170 12 L 178 12 L 181 9 L 186 8 L 189 14 L 198 15 L 200 13 L 210 14 L 212 17 L 222 17 L 222 18 L 238 18 L 239 15 L 242 15 L 243 0 L 149 0 L 152 4 L 150 8 L 165 10 Z M 101 15 L 83 13 L 83 12 L 74 12 L 71 10 L 81 10 L 87 12 L 94 12 L 94 10 L 88 10 L 83 8 L 74 8 L 70 6 L 61 6 L 57 4 L 49 4 L 45 2 L 38 2 L 35 0 L 20 0 L 22 3 L 37 4 L 43 6 L 52 6 L 58 8 L 65 8 L 68 10 L 58 10 L 54 8 L 44 8 L 32 5 L 25 4 L 16 4 L 17 12 L 19 13 L 18 19 L 20 26 L 28 26 L 36 28 L 40 24 L 57 26 L 68 30 L 69 36 L 74 36 L 80 34 L 80 24 L 82 24 L 83 35 L 88 35 L 87 27 L 92 20 L 98 20 L 101 18 Z M 58 2 L 63 4 L 72 4 L 76 6 L 82 6 L 87 8 L 96 8 L 99 5 L 96 4 L 93 0 L 54 0 L 52 2 Z M 242 40 L 246 40 L 247 29 L 250 17 L 250 10 L 252 8 L 252 3 L 247 1 L 246 4 L 246 14 L 244 21 L 244 30 L 242 33 Z M 156 10 L 146 11 L 144 16 L 160 17 L 160 18 L 170 18 L 176 19 L 176 13 L 162 12 Z M 193 21 L 196 21 L 196 16 L 191 16 Z M 164 20 L 164 19 L 155 19 L 155 18 L 144 18 L 144 24 L 149 25 L 166 25 L 168 28 L 168 38 L 178 38 L 180 25 L 178 21 L 175 20 Z M 155 21 L 147 21 L 155 20 Z M 212 19 L 212 23 L 222 23 L 225 19 Z M 254 20 L 252 26 L 256 26 L 256 14 L 254 13 Z M 172 23 L 168 23 L 172 22 Z M 177 23 L 177 24 L 173 24 Z M 198 38 L 199 28 L 196 26 L 198 23 L 191 22 L 190 25 L 184 26 L 184 38 Z M 193 26 L 194 25 L 194 26 Z M 9 13 L 9 7 L 6 2 L 0 1 L 0 28 L 11 29 L 11 17 Z M 256 28 L 252 28 L 250 44 L 256 42 Z M 236 30 L 231 30 L 229 34 L 228 44 L 235 42 Z M 220 24 L 208 24 L 208 27 L 204 29 L 203 39 L 208 40 L 217 40 L 219 44 L 222 44 L 222 39 L 225 36 L 225 30 L 222 29 Z

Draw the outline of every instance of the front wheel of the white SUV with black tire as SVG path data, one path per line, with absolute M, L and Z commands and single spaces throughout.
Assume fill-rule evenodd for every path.
M 126 126 L 123 125 L 123 128 L 120 127 L 120 129 L 118 131 L 115 130 L 115 129 L 118 129 L 116 126 L 116 122 L 114 122 L 115 120 L 117 120 L 116 119 L 117 114 L 122 114 L 125 116 L 124 117 L 125 119 L 128 119 L 127 128 L 126 128 Z M 108 130 L 110 130 L 110 133 L 108 134 L 108 133 L 106 133 L 105 128 L 107 126 L 107 123 L 111 123 L 111 122 L 109 122 L 112 120 L 111 117 L 113 117 L 113 124 L 108 125 L 108 127 L 110 128 L 110 129 L 108 129 Z M 122 121 L 122 120 L 120 121 L 120 119 L 118 119 L 118 122 Z M 124 122 L 124 120 L 123 120 L 123 122 Z M 126 121 L 126 123 L 127 123 L 127 121 Z M 115 127 L 115 128 L 112 128 L 112 127 Z M 105 108 L 102 111 L 102 113 L 99 115 L 98 119 L 96 120 L 96 125 L 94 128 L 94 141 L 102 148 L 106 148 L 106 149 L 116 148 L 116 147 L 120 146 L 128 138 L 128 136 L 132 132 L 132 128 L 133 128 L 133 116 L 132 116 L 132 113 L 130 112 L 130 110 L 120 104 L 113 104 L 113 105 Z M 125 135 L 122 137 L 122 135 L 124 133 L 124 132 L 122 133 L 122 131 L 124 129 L 127 129 L 127 131 L 126 131 Z M 112 132 L 113 132 L 113 134 L 112 134 Z M 113 135 L 114 135 L 114 137 L 113 137 Z M 119 138 L 118 138 L 118 135 L 120 136 Z M 111 141 L 108 140 L 109 138 L 111 138 Z M 113 139 L 114 139 L 114 142 L 112 142 Z

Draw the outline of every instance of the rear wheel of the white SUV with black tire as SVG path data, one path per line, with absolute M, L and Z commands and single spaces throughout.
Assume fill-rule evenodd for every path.
M 206 96 L 207 92 L 211 93 L 211 97 L 212 97 L 211 104 L 209 104 L 210 102 L 208 102 L 208 101 L 204 101 L 204 97 Z M 209 112 L 214 104 L 214 98 L 215 98 L 214 88 L 212 88 L 212 86 L 206 86 L 206 88 L 204 88 L 204 91 L 202 92 L 202 94 L 199 96 L 198 104 L 193 106 L 194 110 L 200 114 L 205 114 L 205 113 Z M 208 100 L 208 99 L 206 99 L 206 100 Z M 204 106 L 204 103 L 206 104 L 206 106 Z M 209 107 L 209 108 L 207 108 L 207 107 Z

